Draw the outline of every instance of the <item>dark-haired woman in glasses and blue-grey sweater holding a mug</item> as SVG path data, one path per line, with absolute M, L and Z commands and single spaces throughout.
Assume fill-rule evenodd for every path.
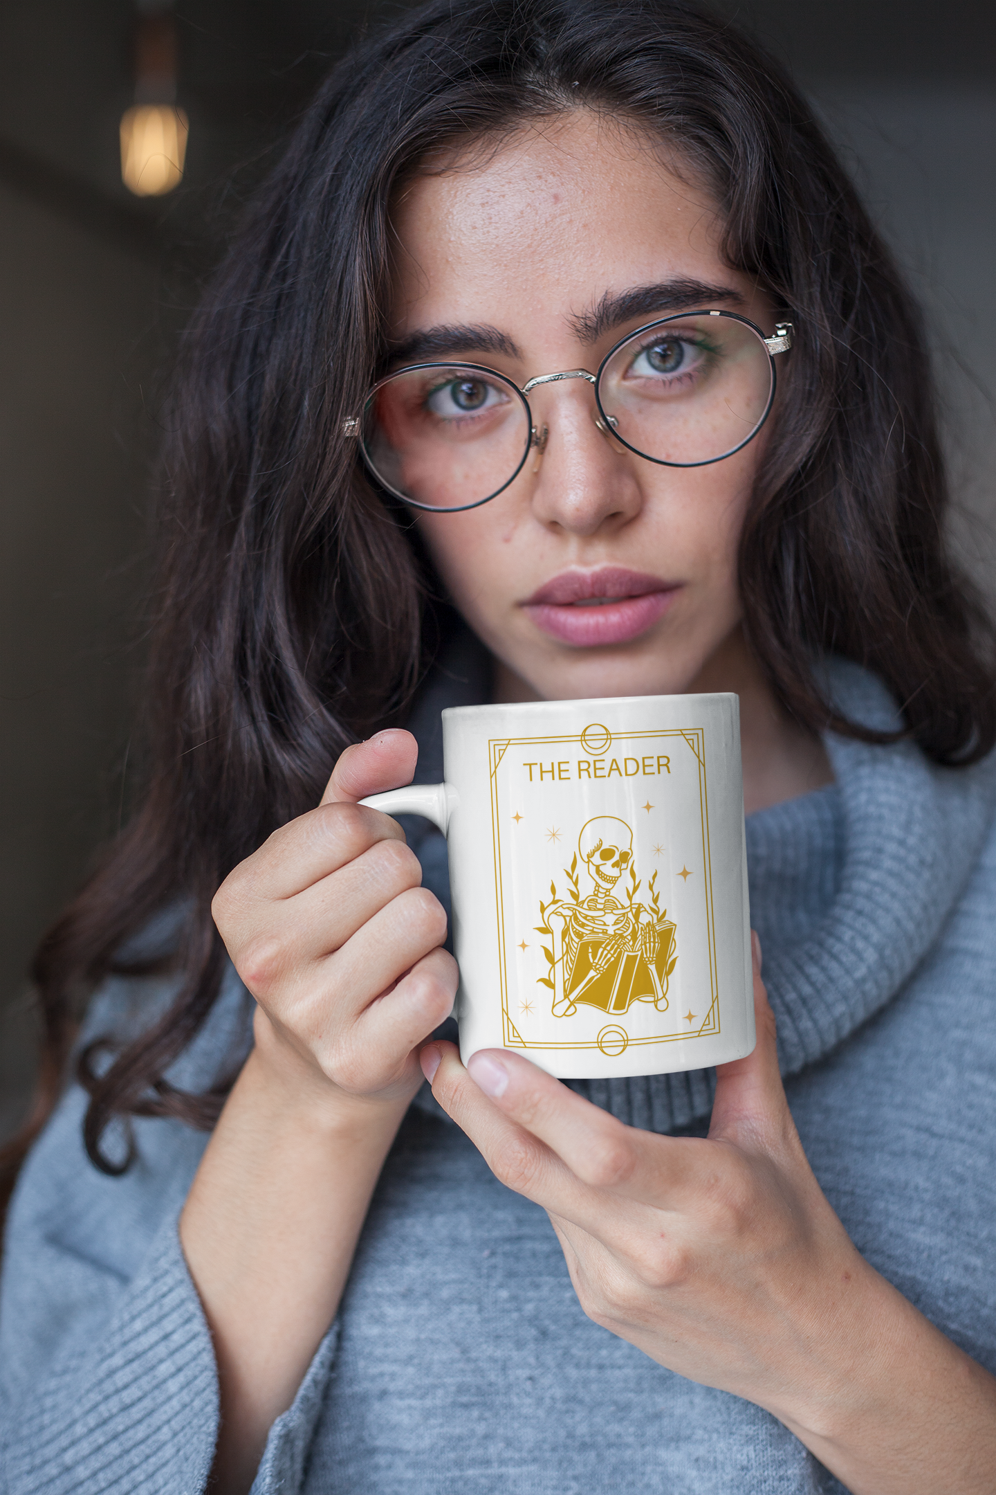
M 736 440 L 602 419 L 609 354 L 682 399 L 739 336 L 778 392 Z M 551 372 L 518 472 L 420 466 L 405 419 L 469 449 Z M 181 390 L 148 795 L 37 966 L 52 1085 L 100 993 L 12 1205 L 7 1489 L 992 1489 L 990 635 L 790 84 L 669 0 L 412 12 Z M 464 1070 L 442 840 L 355 801 L 435 777 L 445 704 L 703 689 L 779 1051 L 759 940 L 715 1079 Z

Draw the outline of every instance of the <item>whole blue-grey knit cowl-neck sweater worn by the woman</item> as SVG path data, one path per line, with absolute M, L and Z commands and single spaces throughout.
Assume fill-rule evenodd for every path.
M 458 674 L 458 671 L 457 671 Z M 888 724 L 874 680 L 842 704 Z M 442 697 L 441 697 L 442 692 Z M 423 701 L 420 777 L 442 701 Z M 751 915 L 802 1141 L 859 1250 L 996 1372 L 996 774 L 827 740 L 836 783 L 748 821 Z M 445 848 L 411 825 L 426 881 Z M 167 993 L 112 982 L 91 1032 Z M 185 1084 L 246 1042 L 231 972 Z M 702 1130 L 708 1073 L 575 1082 L 635 1126 Z M 97 1174 L 70 1090 L 15 1196 L 0 1304 L 4 1495 L 196 1495 L 218 1417 L 211 1337 L 176 1220 L 205 1147 L 139 1121 Z M 996 1471 L 993 1471 L 996 1488 Z M 774 1417 L 590 1323 L 542 1209 L 499 1184 L 421 1094 L 387 1160 L 336 1323 L 269 1437 L 254 1495 L 839 1492 Z

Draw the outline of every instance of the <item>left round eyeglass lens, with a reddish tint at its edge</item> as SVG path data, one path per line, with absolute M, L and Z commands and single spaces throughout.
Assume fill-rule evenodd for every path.
M 379 384 L 363 447 L 379 480 L 427 508 L 466 508 L 506 487 L 529 450 L 529 407 L 500 374 L 423 365 Z

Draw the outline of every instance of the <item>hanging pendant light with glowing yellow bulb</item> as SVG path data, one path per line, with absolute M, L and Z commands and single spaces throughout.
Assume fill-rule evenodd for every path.
M 121 179 L 160 197 L 184 175 L 188 121 L 176 106 L 176 18 L 169 0 L 139 0 L 134 106 L 121 117 Z

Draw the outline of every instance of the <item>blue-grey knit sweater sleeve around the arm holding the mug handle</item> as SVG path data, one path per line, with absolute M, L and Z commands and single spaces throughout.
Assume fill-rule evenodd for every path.
M 73 1087 L 10 1205 L 0 1284 L 0 1495 L 200 1495 L 218 1375 L 178 1220 L 206 1136 L 139 1120 L 119 1178 L 82 1147 Z M 297 1495 L 336 1331 L 273 1423 L 254 1495 Z

